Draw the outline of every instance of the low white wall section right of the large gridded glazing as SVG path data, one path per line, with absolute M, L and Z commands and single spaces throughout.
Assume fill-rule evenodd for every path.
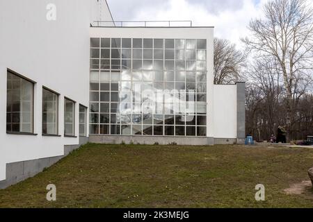
M 214 138 L 237 137 L 236 85 L 214 85 Z

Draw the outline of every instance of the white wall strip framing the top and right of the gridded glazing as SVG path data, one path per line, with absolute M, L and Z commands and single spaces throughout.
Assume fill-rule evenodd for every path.
M 206 39 L 207 40 L 207 137 L 214 137 L 213 128 L 213 52 L 214 28 L 134 28 L 106 27 L 90 28 L 90 37 L 125 37 L 125 38 L 168 38 L 168 39 Z

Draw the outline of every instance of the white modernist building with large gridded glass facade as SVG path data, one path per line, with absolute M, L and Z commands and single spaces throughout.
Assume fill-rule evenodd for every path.
M 213 27 L 122 27 L 104 0 L 5 0 L 0 32 L 0 188 L 88 141 L 245 137 L 244 83 L 213 84 Z

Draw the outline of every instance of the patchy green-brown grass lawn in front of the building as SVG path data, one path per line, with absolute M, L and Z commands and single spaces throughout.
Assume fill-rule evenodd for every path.
M 87 144 L 0 190 L 0 207 L 313 207 L 311 188 L 283 191 L 309 180 L 310 167 L 310 148 Z M 264 202 L 255 200 L 257 184 Z

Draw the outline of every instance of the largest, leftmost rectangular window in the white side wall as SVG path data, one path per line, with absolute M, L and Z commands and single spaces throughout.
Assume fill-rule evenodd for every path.
M 8 71 L 6 131 L 33 133 L 34 83 Z

